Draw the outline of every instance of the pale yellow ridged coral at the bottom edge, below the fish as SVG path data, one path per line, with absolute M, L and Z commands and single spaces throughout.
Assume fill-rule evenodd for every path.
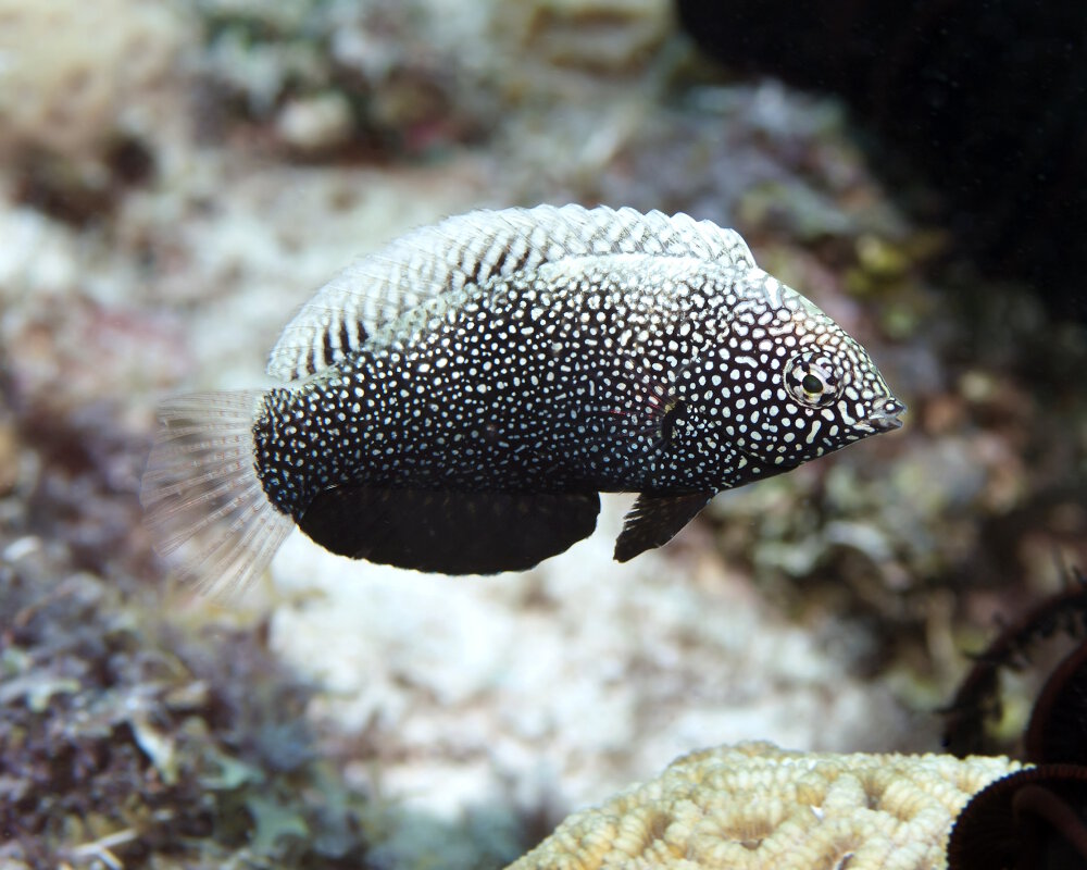
M 959 811 L 1021 767 L 1007 758 L 800 753 L 770 743 L 707 749 L 571 816 L 508 870 L 946 867 Z

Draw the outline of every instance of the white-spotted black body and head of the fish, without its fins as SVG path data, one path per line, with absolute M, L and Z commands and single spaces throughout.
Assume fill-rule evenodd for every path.
M 602 253 L 529 256 L 534 268 L 509 275 L 487 248 L 489 277 L 372 315 L 361 348 L 267 394 L 254 435 L 271 500 L 297 518 L 346 483 L 717 492 L 886 428 L 872 419 L 901 410 L 863 348 L 795 290 L 701 256 L 709 241 L 661 256 L 665 243 L 639 237 L 640 252 L 615 252 L 629 223 L 592 224 L 582 245 Z M 817 395 L 804 393 L 812 372 Z

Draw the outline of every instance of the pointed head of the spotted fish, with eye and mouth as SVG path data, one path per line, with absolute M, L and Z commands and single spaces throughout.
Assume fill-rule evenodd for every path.
M 734 390 L 729 402 L 733 443 L 753 476 L 901 426 L 905 405 L 867 351 L 810 300 L 766 278 L 776 286 L 755 298 L 748 316 L 734 319 L 730 336 L 751 348 L 745 361 L 757 366 L 739 378 L 742 393 Z M 732 364 L 738 361 L 733 355 Z

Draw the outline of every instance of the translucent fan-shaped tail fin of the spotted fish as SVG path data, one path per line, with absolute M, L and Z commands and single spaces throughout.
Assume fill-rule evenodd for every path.
M 159 408 L 140 504 L 155 551 L 202 592 L 243 589 L 293 527 L 257 476 L 253 419 L 263 395 L 198 393 Z

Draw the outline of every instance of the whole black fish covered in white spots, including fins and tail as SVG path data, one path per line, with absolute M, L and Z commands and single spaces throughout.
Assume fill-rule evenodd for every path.
M 449 574 L 526 569 L 636 492 L 615 545 L 715 493 L 900 425 L 864 349 L 685 214 L 476 211 L 346 269 L 284 331 L 266 393 L 166 403 L 142 500 L 160 551 L 243 583 L 293 525 Z

